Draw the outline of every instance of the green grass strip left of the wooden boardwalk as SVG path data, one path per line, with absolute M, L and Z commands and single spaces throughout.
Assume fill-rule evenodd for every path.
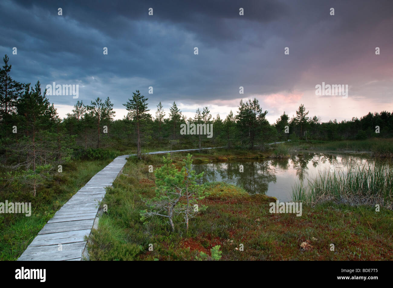
M 0 193 L 4 202 L 31 202 L 31 216 L 0 214 L 0 260 L 17 260 L 46 222 L 86 182 L 110 160 L 75 160 L 63 165 L 63 172 L 37 191 L 33 197 L 18 185 L 8 185 Z

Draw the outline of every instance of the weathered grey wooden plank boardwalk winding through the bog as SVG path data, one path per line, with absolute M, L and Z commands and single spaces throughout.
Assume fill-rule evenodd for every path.
M 222 147 L 202 148 L 202 150 L 215 148 Z M 156 151 L 146 154 L 166 154 L 196 150 L 199 149 Z M 129 156 L 135 156 L 135 154 L 119 156 L 95 174 L 45 224 L 28 248 L 20 255 L 18 261 L 81 260 L 82 251 L 86 247 L 84 236 L 89 236 L 92 231 L 94 219 L 98 212 L 98 203 L 104 198 L 106 193 L 105 187 L 112 186 L 112 182 L 123 170 L 127 162 L 126 158 Z

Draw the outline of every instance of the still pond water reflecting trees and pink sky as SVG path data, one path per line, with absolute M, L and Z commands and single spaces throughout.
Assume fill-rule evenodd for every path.
M 374 160 L 353 155 L 303 153 L 286 159 L 241 160 L 220 163 L 194 164 L 197 173 L 205 172 L 203 182 L 226 182 L 243 187 L 250 194 L 266 194 L 280 201 L 292 200 L 292 186 L 307 183 L 320 172 L 346 172 L 349 164 L 374 165 Z M 240 165 L 243 171 L 239 172 Z

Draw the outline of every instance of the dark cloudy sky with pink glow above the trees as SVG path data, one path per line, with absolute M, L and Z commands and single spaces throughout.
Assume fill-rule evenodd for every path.
M 48 96 L 61 117 L 109 97 L 121 119 L 140 90 L 152 114 L 176 101 L 187 117 L 208 106 L 223 118 L 256 97 L 270 123 L 300 104 L 341 121 L 393 111 L 392 11 L 391 0 L 2 0 L 0 54 L 17 81 L 79 84 L 78 99 Z M 322 82 L 347 84 L 348 97 L 316 95 Z

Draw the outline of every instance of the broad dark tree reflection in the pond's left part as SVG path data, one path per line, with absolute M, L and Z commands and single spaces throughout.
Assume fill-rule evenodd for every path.
M 244 172 L 239 172 L 240 165 L 243 165 Z M 264 194 L 268 190 L 268 183 L 276 181 L 268 161 L 209 163 L 194 165 L 193 169 L 197 173 L 205 172 L 199 183 L 213 181 L 233 183 L 243 187 L 250 194 Z

